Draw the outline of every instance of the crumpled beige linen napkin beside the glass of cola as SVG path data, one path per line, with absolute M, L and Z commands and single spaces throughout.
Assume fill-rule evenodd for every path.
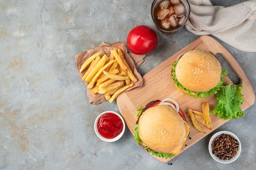
M 241 51 L 256 52 L 256 0 L 231 7 L 213 6 L 210 0 L 188 0 L 191 8 L 186 29 L 213 35 Z

